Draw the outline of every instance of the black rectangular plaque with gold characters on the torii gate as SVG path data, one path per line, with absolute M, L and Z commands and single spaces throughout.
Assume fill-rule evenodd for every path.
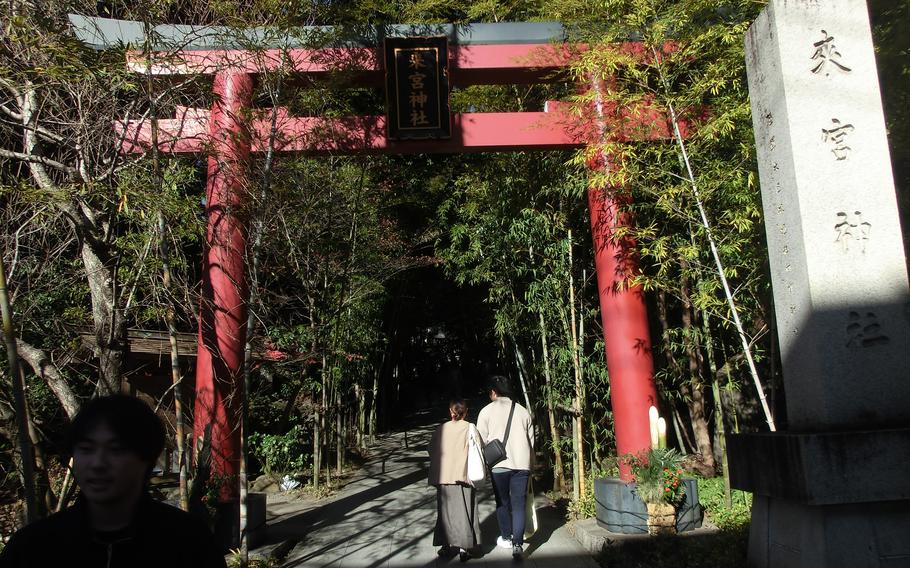
M 385 69 L 389 139 L 449 138 L 446 38 L 386 38 Z

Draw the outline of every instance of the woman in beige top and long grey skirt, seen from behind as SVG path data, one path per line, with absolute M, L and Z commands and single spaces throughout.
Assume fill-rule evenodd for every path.
M 439 549 L 442 556 L 457 553 L 462 562 L 471 557 L 471 549 L 480 545 L 474 484 L 468 479 L 469 436 L 473 424 L 464 419 L 467 414 L 467 404 L 453 400 L 449 403 L 451 420 L 440 424 L 430 441 L 429 484 L 436 487 L 433 545 L 442 546 Z

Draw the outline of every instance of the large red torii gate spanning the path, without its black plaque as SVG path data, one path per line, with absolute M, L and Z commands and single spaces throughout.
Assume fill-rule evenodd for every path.
M 93 18 L 90 22 L 91 32 L 86 34 L 83 29 L 80 34 L 83 39 L 89 37 L 88 43 L 95 40 L 95 45 L 114 45 L 117 41 L 128 41 L 123 37 L 123 22 L 113 21 L 120 26 L 113 31 L 107 24 L 109 20 Z M 159 26 L 156 32 L 161 33 L 162 28 L 167 32 L 169 27 Z M 465 28 L 469 30 L 467 38 L 464 29 L 431 28 L 442 30 L 442 34 L 450 37 L 450 87 L 543 82 L 572 61 L 571 46 L 551 42 L 550 38 L 558 35 L 554 32 L 561 33 L 558 24 L 471 24 Z M 442 35 L 427 33 L 428 26 L 397 27 L 399 35 L 407 35 L 408 30 L 413 33 L 415 29 L 419 35 Z M 170 31 L 172 35 L 185 33 Z M 141 41 L 141 36 L 135 37 L 135 31 L 133 36 L 134 45 Z M 641 46 L 635 43 L 615 48 L 641 52 Z M 574 49 L 577 52 L 584 47 Z M 209 154 L 207 247 L 203 259 L 201 347 L 196 366 L 193 432 L 199 439 L 211 429 L 214 474 L 233 476 L 239 469 L 239 413 L 235 395 L 243 369 L 247 283 L 243 260 L 246 232 L 237 210 L 243 205 L 247 160 L 251 153 L 266 150 L 272 132 L 272 109 L 252 108 L 254 77 L 282 66 L 292 69 L 297 77 L 309 78 L 343 69 L 358 86 L 380 87 L 384 84 L 381 57 L 376 47 L 260 52 L 184 48 L 176 53 L 153 53 L 151 63 L 141 53 L 128 54 L 128 64 L 136 72 L 214 76 L 215 103 L 211 110 L 178 108 L 176 117 L 157 121 L 161 151 Z M 586 117 L 572 116 L 568 105 L 548 102 L 543 112 L 454 114 L 449 139 L 395 141 L 386 137 L 384 116 L 294 117 L 285 109 L 278 109 L 274 149 L 307 153 L 551 150 L 581 148 L 607 139 L 669 138 L 672 134 L 664 113 L 647 105 L 636 109 L 632 116 L 606 108 L 598 101 L 587 112 Z M 119 128 L 123 134 L 123 152 L 145 152 L 151 147 L 150 120 L 130 121 Z M 598 154 L 589 160 L 589 167 L 609 167 L 607 157 Z M 650 447 L 648 407 L 657 404 L 657 395 L 643 291 L 627 281 L 638 270 L 635 243 L 629 238 L 613 237 L 617 228 L 629 222 L 621 214 L 613 190 L 592 187 L 588 200 L 617 451 L 626 455 Z M 623 469 L 621 477 L 629 480 L 628 468 Z M 222 497 L 234 496 L 231 491 L 225 488 Z

